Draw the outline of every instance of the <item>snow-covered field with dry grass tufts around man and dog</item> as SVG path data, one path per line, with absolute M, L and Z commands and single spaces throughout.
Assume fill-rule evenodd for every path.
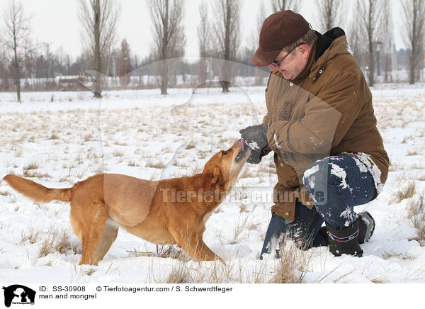
M 416 215 L 425 211 L 424 85 L 378 85 L 372 91 L 391 167 L 383 193 L 356 211 L 373 215 L 375 233 L 362 245 L 362 258 L 333 257 L 325 247 L 302 252 L 289 243 L 285 250 L 293 261 L 286 267 L 304 283 L 425 283 L 425 240 L 409 211 L 415 205 L 422 207 Z M 158 93 L 109 91 L 101 101 L 89 92 L 24 93 L 21 104 L 14 94 L 0 94 L 0 178 L 17 174 L 67 187 L 98 172 L 143 179 L 196 174 L 266 111 L 263 87 Z M 258 259 L 275 183 L 271 155 L 259 165 L 246 164 L 232 194 L 208 220 L 205 243 L 226 266 L 160 257 L 175 249 L 159 247 L 157 253 L 155 245 L 123 230 L 98 266 L 81 266 L 69 205 L 35 205 L 3 182 L 0 282 L 160 283 L 173 282 L 176 274 L 188 275 L 183 277 L 189 283 L 276 281 L 282 260 Z

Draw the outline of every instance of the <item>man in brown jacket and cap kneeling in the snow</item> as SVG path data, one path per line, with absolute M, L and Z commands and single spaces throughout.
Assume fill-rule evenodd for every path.
M 353 207 L 382 191 L 389 159 L 344 30 L 321 35 L 300 14 L 273 13 L 261 27 L 251 64 L 272 71 L 267 114 L 263 124 L 240 133 L 254 150 L 248 162 L 258 164 L 273 150 L 278 174 L 261 258 L 285 235 L 303 248 L 329 245 L 335 256 L 361 257 L 359 244 L 375 222 Z

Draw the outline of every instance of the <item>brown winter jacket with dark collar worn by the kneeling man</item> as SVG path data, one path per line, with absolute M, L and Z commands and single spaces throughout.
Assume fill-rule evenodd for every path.
M 263 123 L 270 124 L 267 137 L 278 174 L 272 212 L 290 221 L 297 197 L 313 207 L 302 175 L 318 159 L 345 152 L 357 157 L 369 167 L 378 192 L 389 166 L 376 128 L 372 94 L 348 52 L 344 31 L 334 28 L 316 34 L 317 43 L 301 74 L 288 81 L 273 72 L 266 89 Z

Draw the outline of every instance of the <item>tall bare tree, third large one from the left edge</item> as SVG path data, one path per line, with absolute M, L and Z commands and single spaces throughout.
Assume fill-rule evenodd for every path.
M 184 34 L 184 0 L 149 0 L 154 36 L 152 55 L 159 64 L 159 87 L 161 94 L 167 94 L 170 81 L 170 58 L 184 54 L 186 36 Z

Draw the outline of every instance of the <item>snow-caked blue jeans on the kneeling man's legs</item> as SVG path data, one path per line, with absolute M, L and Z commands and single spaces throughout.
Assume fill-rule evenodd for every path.
M 303 249 L 327 245 L 319 233 L 326 221 L 336 230 L 342 230 L 356 219 L 354 206 L 368 203 L 376 196 L 373 176 L 364 164 L 348 155 L 327 157 L 314 162 L 303 177 L 314 207 L 310 210 L 300 201 L 295 204 L 295 220 L 288 221 L 274 214 L 264 239 L 260 258 L 273 249 L 273 239 L 284 235 Z

